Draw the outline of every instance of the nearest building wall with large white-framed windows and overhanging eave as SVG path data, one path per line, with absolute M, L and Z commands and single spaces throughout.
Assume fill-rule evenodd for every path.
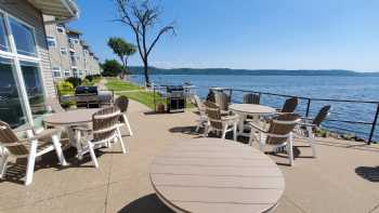
M 43 14 L 54 22 L 78 16 L 70 0 L 0 3 L 0 120 L 12 128 L 34 125 L 47 96 L 56 96 Z

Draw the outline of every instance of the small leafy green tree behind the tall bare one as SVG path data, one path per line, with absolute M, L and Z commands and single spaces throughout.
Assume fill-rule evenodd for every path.
M 119 37 L 109 38 L 108 46 L 122 62 L 123 71 L 120 74 L 120 78 L 123 79 L 128 72 L 128 58 L 136 52 L 135 46 Z

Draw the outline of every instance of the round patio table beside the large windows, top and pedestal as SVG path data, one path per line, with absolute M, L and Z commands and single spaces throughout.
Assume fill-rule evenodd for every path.
M 97 112 L 100 108 L 92 109 L 76 109 L 64 112 L 56 112 L 43 118 L 43 123 L 48 127 L 64 127 L 67 130 L 69 142 L 75 146 L 78 151 L 81 150 L 81 144 L 79 142 L 79 132 L 75 132 L 73 128 L 79 125 L 86 125 L 92 122 L 92 115 Z

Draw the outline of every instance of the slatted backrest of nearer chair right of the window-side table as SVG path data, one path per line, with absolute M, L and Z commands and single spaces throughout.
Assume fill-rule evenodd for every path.
M 120 109 L 116 106 L 101 109 L 92 115 L 93 141 L 103 142 L 115 137 L 120 117 Z

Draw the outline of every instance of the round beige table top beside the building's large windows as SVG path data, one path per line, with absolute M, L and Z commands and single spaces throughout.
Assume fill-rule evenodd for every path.
M 76 125 L 89 123 L 92 121 L 92 115 L 97 112 L 99 108 L 76 109 L 65 112 L 52 114 L 43 119 L 44 123 L 51 125 Z

